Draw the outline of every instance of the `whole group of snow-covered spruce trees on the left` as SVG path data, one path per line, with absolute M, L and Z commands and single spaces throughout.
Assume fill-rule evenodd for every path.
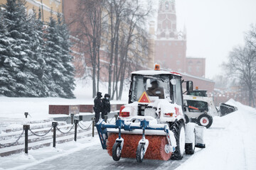
M 43 30 L 41 11 L 26 15 L 25 0 L 0 7 L 0 95 L 74 98 L 74 67 L 68 29 L 50 17 Z

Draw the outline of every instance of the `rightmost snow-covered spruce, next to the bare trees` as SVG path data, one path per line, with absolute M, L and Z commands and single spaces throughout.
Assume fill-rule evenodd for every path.
M 62 23 L 60 18 L 59 22 Z M 51 16 L 44 35 L 46 44 L 43 50 L 46 61 L 45 84 L 48 84 L 50 96 L 74 98 L 74 69 L 71 64 L 73 57 L 69 54 L 68 37 L 66 27 Z

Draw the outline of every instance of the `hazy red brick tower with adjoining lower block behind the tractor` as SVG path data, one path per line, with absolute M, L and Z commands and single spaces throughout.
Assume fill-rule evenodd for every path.
M 186 57 L 186 29 L 177 30 L 174 0 L 160 0 L 154 61 L 164 69 L 205 77 L 205 58 Z

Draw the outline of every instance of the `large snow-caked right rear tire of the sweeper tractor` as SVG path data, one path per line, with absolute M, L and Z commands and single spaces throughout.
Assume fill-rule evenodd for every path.
M 178 123 L 175 123 L 172 128 L 171 128 L 171 131 L 174 132 L 174 137 L 176 138 L 176 148 L 175 148 L 175 151 L 174 153 L 171 154 L 171 159 L 175 159 L 175 160 L 179 160 L 179 159 L 182 159 L 183 158 L 183 155 L 184 155 L 184 152 L 185 152 L 185 146 L 184 149 L 182 149 L 184 152 L 181 152 L 181 149 L 180 146 L 181 145 L 181 141 L 180 141 L 180 135 L 181 135 L 181 130 L 184 130 L 184 136 L 183 136 L 183 142 L 184 142 L 184 145 L 185 145 L 185 125 L 183 122 L 178 122 Z

